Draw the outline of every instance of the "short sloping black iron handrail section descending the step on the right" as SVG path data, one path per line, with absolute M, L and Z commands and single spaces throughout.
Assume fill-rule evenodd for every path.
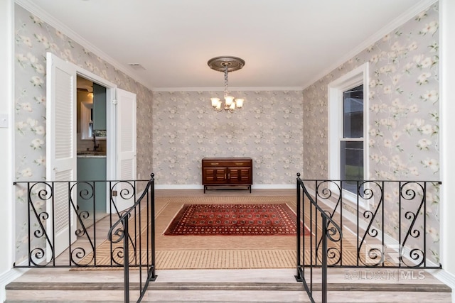
M 328 258 L 333 254 L 332 246 L 343 238 L 341 227 L 321 208 L 307 191 L 297 174 L 297 259 L 296 280 L 303 282 L 311 302 L 314 293 L 321 291 L 321 302 L 327 302 Z M 329 244 L 330 243 L 330 244 Z M 314 272 L 321 270 L 321 288 L 315 287 Z

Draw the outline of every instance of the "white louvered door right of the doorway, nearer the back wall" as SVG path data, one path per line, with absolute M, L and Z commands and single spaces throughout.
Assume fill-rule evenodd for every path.
M 117 89 L 116 108 L 116 180 L 136 180 L 136 94 Z M 127 182 L 114 188 L 117 191 L 117 211 L 134 204 L 134 190 Z

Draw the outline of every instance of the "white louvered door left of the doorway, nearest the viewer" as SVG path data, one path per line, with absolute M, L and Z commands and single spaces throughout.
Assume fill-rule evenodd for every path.
M 46 79 L 46 181 L 76 180 L 76 70 L 69 62 L 47 54 Z M 72 194 L 76 203 L 75 194 Z M 70 206 L 68 183 L 55 182 L 53 199 L 48 200 L 46 259 L 51 260 L 76 240 L 76 216 Z M 68 216 L 70 214 L 70 216 Z M 70 236 L 73 235 L 73 236 Z

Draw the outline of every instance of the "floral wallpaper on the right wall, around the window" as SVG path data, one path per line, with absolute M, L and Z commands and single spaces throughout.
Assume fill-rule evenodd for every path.
M 328 177 L 328 84 L 369 62 L 370 180 L 439 177 L 439 16 L 430 6 L 304 89 L 304 177 Z M 428 245 L 439 260 L 439 185 L 427 192 Z M 385 231 L 397 235 L 398 192 L 385 197 Z

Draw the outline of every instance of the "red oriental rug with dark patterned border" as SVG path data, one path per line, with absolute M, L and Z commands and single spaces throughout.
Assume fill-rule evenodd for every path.
M 183 204 L 169 236 L 295 236 L 296 214 L 282 204 Z M 309 235 L 305 228 L 305 236 Z

